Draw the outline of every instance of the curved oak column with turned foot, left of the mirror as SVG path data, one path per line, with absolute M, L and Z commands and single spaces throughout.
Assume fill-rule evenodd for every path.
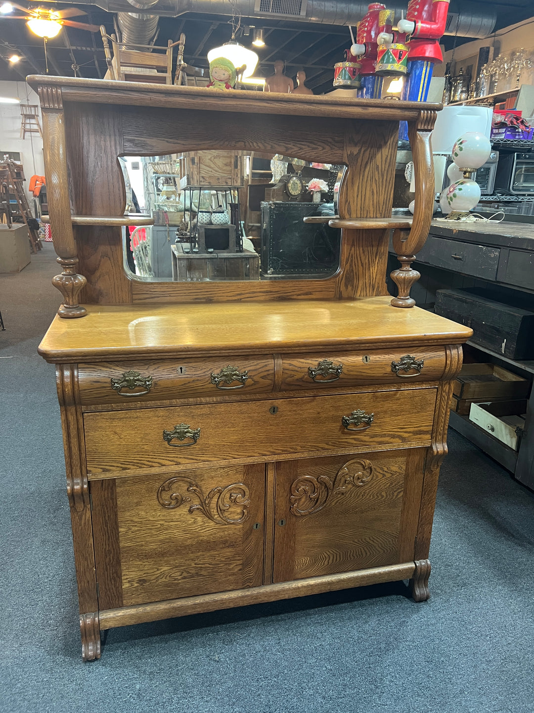
M 54 250 L 58 263 L 63 267 L 61 275 L 52 279 L 52 284 L 63 295 L 63 304 L 58 309 L 60 317 L 83 317 L 85 308 L 78 304 L 78 293 L 87 280 L 78 275 L 78 248 L 70 220 L 68 200 L 65 117 L 61 88 L 39 86 L 43 114 L 44 163 L 46 194 Z

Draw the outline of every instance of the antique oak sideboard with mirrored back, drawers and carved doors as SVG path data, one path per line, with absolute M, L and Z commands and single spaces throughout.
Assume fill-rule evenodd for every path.
M 57 369 L 83 657 L 100 630 L 372 583 L 429 596 L 461 344 L 413 307 L 439 106 L 28 78 L 63 272 Z M 417 177 L 392 219 L 399 120 Z M 228 149 L 345 164 L 327 279 L 145 282 L 123 269 L 118 155 Z M 387 294 L 389 232 L 402 267 Z

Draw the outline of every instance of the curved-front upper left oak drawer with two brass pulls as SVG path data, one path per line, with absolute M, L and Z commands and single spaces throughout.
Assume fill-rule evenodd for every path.
M 82 404 L 220 396 L 237 390 L 257 394 L 272 391 L 273 380 L 272 356 L 186 357 L 78 365 Z

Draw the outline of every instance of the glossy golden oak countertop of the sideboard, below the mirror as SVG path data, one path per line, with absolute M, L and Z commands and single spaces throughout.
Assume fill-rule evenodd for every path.
M 56 317 L 38 351 L 51 362 L 105 361 L 461 344 L 473 333 L 424 309 L 392 307 L 390 299 L 88 304 L 83 319 Z

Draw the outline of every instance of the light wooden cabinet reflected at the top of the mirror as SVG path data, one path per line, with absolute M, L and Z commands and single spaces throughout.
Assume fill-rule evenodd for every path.
M 200 151 L 180 157 L 180 188 L 241 188 L 245 183 L 241 151 Z

